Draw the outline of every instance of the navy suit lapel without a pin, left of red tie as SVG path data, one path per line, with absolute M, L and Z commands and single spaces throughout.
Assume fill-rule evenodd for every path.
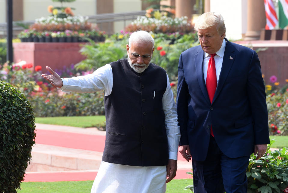
M 210 103 L 210 99 L 209 99 L 208 92 L 206 89 L 205 80 L 203 77 L 203 58 L 204 58 L 204 51 L 200 47 L 200 49 L 198 50 L 198 54 L 194 55 L 194 63 L 195 63 L 197 79 L 198 79 L 201 91 L 205 99 L 207 100 L 207 102 Z

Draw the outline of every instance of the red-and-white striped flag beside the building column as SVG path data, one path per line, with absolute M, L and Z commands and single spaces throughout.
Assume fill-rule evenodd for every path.
M 265 29 L 274 29 L 278 24 L 278 18 L 272 0 L 264 0 L 266 12 L 266 26 Z

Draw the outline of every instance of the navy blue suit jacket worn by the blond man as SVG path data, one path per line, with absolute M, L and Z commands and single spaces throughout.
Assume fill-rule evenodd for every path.
M 204 51 L 189 48 L 179 58 L 177 113 L 180 145 L 204 161 L 210 125 L 217 145 L 230 158 L 249 156 L 255 144 L 269 143 L 265 85 L 259 58 L 250 48 L 229 42 L 212 104 L 203 77 Z

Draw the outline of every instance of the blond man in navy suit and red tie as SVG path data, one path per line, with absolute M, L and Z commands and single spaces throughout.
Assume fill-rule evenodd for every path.
M 265 86 L 255 51 L 225 38 L 223 17 L 199 16 L 200 45 L 179 58 L 179 152 L 193 166 L 194 192 L 247 192 L 246 168 L 269 142 Z

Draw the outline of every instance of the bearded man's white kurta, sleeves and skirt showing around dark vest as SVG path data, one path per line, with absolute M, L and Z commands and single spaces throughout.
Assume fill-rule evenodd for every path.
M 167 76 L 167 87 L 162 98 L 165 113 L 165 127 L 168 139 L 169 159 L 177 160 L 180 128 L 173 92 Z M 105 96 L 113 89 L 113 74 L 110 64 L 95 70 L 92 74 L 62 78 L 64 92 L 92 93 L 105 89 Z M 153 158 L 151 158 L 153 159 Z M 139 167 L 112 164 L 102 161 L 91 192 L 165 192 L 166 166 Z

